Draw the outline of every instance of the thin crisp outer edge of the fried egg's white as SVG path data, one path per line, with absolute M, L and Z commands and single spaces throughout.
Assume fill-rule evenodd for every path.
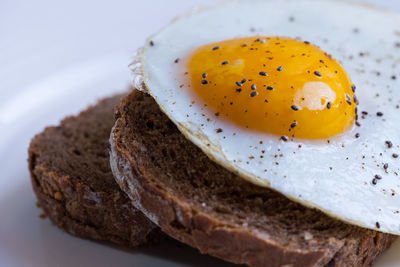
M 326 1 L 329 2 L 329 1 L 332 1 L 332 0 L 326 0 Z M 233 1 L 223 1 L 222 3 L 216 4 L 215 6 L 223 5 L 226 2 L 233 2 Z M 243 1 L 242 0 L 234 0 L 234 2 L 243 2 Z M 290 2 L 290 0 L 280 0 L 280 2 Z M 334 2 L 334 1 L 332 1 L 332 2 Z M 375 7 L 375 6 L 371 5 L 371 4 L 356 3 L 356 2 L 353 2 L 353 1 L 349 1 L 349 0 L 339 0 L 339 1 L 336 1 L 336 2 L 342 2 L 342 3 L 351 4 L 351 5 L 354 5 L 354 6 L 360 6 L 360 7 L 363 7 L 363 8 L 369 8 L 371 10 L 379 10 L 380 12 L 385 12 L 388 15 L 396 15 L 397 16 L 397 13 L 395 13 L 395 12 L 392 12 L 390 10 L 386 10 L 384 8 L 378 8 L 378 7 Z M 203 10 L 207 10 L 208 8 L 209 7 L 193 9 L 192 11 L 188 12 L 187 14 L 177 17 L 172 22 L 178 21 L 179 19 L 184 18 L 186 16 L 191 16 L 193 14 L 196 14 L 197 12 L 201 12 Z M 168 26 L 169 25 L 165 26 L 163 29 L 167 28 Z M 163 29 L 161 29 L 160 32 L 162 32 Z M 148 41 L 152 40 L 154 38 L 154 36 L 156 36 L 157 34 L 158 33 L 156 33 L 153 36 L 151 36 L 150 38 L 148 38 Z M 139 72 L 141 74 L 144 73 L 144 69 L 143 69 L 143 65 L 144 65 L 143 59 L 144 59 L 144 57 L 143 57 L 143 55 L 146 53 L 146 49 L 148 49 L 148 47 L 145 47 L 139 53 L 139 61 L 136 62 L 136 63 L 139 62 L 139 64 L 138 64 L 139 66 L 137 66 L 137 67 L 140 69 Z M 135 60 L 136 60 L 136 58 L 135 58 Z M 138 73 L 138 68 L 136 68 L 136 74 Z M 136 77 L 136 78 L 138 78 L 138 77 Z M 137 84 L 137 82 L 136 82 L 136 84 Z M 249 173 L 249 172 L 247 172 L 247 171 L 245 171 L 243 169 L 240 169 L 237 166 L 234 166 L 233 164 L 229 164 L 229 160 L 225 157 L 221 147 L 212 146 L 210 148 L 210 146 L 207 146 L 207 144 L 213 144 L 214 142 L 211 142 L 211 140 L 209 140 L 209 138 L 207 137 L 206 134 L 204 134 L 204 133 L 200 134 L 200 135 L 198 134 L 198 133 L 202 133 L 201 128 L 197 128 L 196 130 L 197 130 L 198 133 L 194 134 L 193 131 L 191 129 L 189 129 L 189 127 L 186 127 L 184 124 L 182 124 L 179 121 L 175 120 L 174 116 L 172 116 L 172 114 L 170 114 L 166 110 L 166 108 L 164 107 L 164 105 L 161 102 L 161 100 L 156 95 L 154 95 L 151 90 L 149 90 L 149 86 L 147 85 L 145 79 L 141 80 L 141 84 L 142 84 L 142 86 L 140 88 L 138 88 L 138 89 L 146 91 L 147 93 L 152 95 L 152 97 L 156 100 L 156 102 L 158 103 L 158 105 L 161 108 L 161 110 L 175 123 L 175 125 L 177 125 L 177 127 L 179 128 L 181 133 L 184 134 L 187 139 L 189 139 L 190 141 L 195 143 L 195 145 L 200 147 L 202 149 L 202 151 L 205 154 L 207 154 L 208 157 L 211 158 L 213 161 L 215 161 L 218 164 L 222 165 L 223 167 L 229 169 L 230 171 L 240 175 L 242 178 L 246 179 L 247 181 L 249 181 L 251 183 L 255 183 L 255 184 L 263 186 L 263 187 L 268 187 L 268 188 L 270 188 L 272 190 L 275 190 L 275 191 L 278 191 L 280 193 L 283 193 L 286 197 L 288 197 L 292 201 L 299 202 L 300 204 L 303 204 L 303 205 L 311 207 L 311 208 L 317 208 L 317 209 L 323 211 L 324 213 L 326 213 L 326 214 L 328 214 L 328 215 L 330 215 L 330 216 L 332 216 L 334 218 L 343 220 L 345 222 L 349 222 L 349 223 L 352 223 L 352 224 L 355 224 L 355 225 L 358 225 L 358 226 L 361 226 L 361 227 L 370 228 L 370 229 L 377 230 L 377 231 L 392 233 L 392 234 L 396 234 L 396 235 L 400 234 L 399 230 L 397 230 L 397 229 L 395 229 L 395 230 L 387 229 L 387 228 L 385 228 L 385 225 L 383 225 L 383 227 L 378 229 L 375 226 L 375 224 L 366 224 L 366 223 L 363 223 L 362 221 L 359 221 L 359 220 L 353 220 L 353 219 L 348 218 L 348 217 L 343 217 L 343 216 L 337 215 L 336 213 L 333 213 L 332 211 L 330 211 L 328 209 L 325 209 L 322 206 L 319 206 L 317 203 L 314 203 L 314 202 L 311 202 L 311 201 L 307 201 L 307 200 L 302 199 L 302 198 L 291 196 L 290 194 L 286 194 L 285 192 L 282 192 L 282 191 L 280 191 L 280 190 L 278 190 L 276 188 L 271 188 L 270 187 L 270 182 L 268 180 L 261 179 L 261 178 L 257 177 L 256 175 L 254 175 L 252 173 Z M 190 127 L 190 128 L 192 128 L 192 127 Z

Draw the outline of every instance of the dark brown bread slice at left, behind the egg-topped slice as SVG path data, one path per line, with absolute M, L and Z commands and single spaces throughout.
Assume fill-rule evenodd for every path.
M 115 183 L 109 165 L 114 107 L 107 98 L 31 141 L 29 169 L 40 207 L 72 235 L 136 247 L 158 239 L 159 230 Z

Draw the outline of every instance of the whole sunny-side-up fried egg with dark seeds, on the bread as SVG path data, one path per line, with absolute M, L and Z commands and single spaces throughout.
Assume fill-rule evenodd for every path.
M 398 235 L 399 25 L 348 1 L 224 2 L 150 37 L 133 80 L 241 178 Z

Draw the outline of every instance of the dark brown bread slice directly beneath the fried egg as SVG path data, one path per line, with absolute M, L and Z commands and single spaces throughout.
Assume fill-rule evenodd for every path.
M 114 176 L 134 205 L 202 253 L 251 266 L 370 266 L 395 239 L 244 181 L 141 92 L 122 101 L 110 143 Z

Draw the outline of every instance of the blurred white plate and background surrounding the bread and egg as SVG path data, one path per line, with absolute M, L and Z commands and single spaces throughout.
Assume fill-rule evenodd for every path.
M 130 56 L 147 36 L 215 2 L 0 0 L 0 266 L 220 266 L 174 243 L 125 251 L 64 234 L 38 219 L 26 162 L 44 126 L 125 89 Z M 398 0 L 362 2 L 400 12 Z M 396 254 L 399 244 L 378 265 L 400 265 Z

